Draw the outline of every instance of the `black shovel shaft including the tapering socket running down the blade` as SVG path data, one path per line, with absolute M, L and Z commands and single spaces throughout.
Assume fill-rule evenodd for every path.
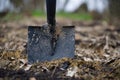
M 56 47 L 56 38 L 55 38 L 56 0 L 46 0 L 46 8 L 47 8 L 47 23 L 50 27 L 50 33 L 52 34 L 52 39 L 51 39 L 52 53 L 50 55 L 54 55 L 55 47 Z

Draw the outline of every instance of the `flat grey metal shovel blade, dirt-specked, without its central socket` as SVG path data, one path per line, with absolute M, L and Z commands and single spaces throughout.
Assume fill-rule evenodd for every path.
M 51 61 L 60 58 L 73 58 L 75 50 L 74 26 L 64 26 L 56 43 L 54 55 L 51 48 L 51 35 L 40 26 L 28 27 L 27 53 L 30 63 Z

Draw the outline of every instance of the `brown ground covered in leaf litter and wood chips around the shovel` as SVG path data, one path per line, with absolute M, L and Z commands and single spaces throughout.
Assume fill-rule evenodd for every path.
M 27 62 L 27 26 L 45 20 L 0 23 L 0 80 L 119 80 L 120 26 L 105 21 L 59 19 L 75 25 L 75 57 L 50 62 Z

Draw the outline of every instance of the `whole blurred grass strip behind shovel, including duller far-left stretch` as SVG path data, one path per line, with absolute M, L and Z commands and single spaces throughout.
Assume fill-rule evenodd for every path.
M 2 21 L 12 21 L 12 20 L 20 20 L 27 16 L 33 17 L 41 17 L 46 18 L 46 13 L 39 10 L 34 10 L 32 12 L 23 12 L 23 13 L 7 13 L 4 17 L 2 17 Z M 58 12 L 57 18 L 67 18 L 71 20 L 92 20 L 92 16 L 89 13 L 65 13 L 65 12 Z

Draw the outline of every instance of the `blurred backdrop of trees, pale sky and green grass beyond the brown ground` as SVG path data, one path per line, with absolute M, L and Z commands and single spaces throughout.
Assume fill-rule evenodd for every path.
M 0 20 L 44 17 L 45 0 L 0 0 Z M 74 20 L 105 20 L 119 24 L 120 0 L 57 0 L 57 16 Z

